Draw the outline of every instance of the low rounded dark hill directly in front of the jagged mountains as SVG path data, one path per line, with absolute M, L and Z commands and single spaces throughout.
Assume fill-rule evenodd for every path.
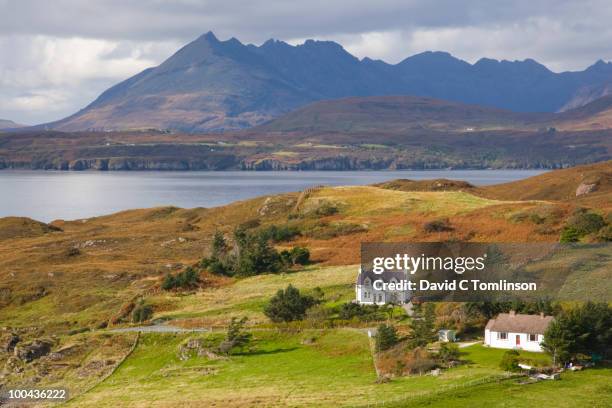
M 314 102 L 254 131 L 351 133 L 526 129 L 554 116 L 418 96 L 370 96 Z

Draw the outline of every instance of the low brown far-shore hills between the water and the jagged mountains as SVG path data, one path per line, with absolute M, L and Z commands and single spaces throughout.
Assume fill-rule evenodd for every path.
M 600 129 L 610 118 L 612 97 L 556 114 L 415 96 L 343 98 L 236 132 L 5 133 L 0 169 L 563 168 L 612 158 L 612 129 Z

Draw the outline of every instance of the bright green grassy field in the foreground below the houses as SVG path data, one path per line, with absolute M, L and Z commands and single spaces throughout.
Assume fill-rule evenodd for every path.
M 200 335 L 210 337 L 218 335 Z M 179 347 L 195 335 L 147 334 L 107 380 L 69 406 L 570 406 L 564 395 L 591 406 L 610 395 L 612 370 L 564 374 L 561 381 L 517 385 L 497 367 L 503 350 L 463 349 L 466 363 L 443 371 L 378 384 L 364 331 L 256 331 L 251 352 L 229 359 L 193 356 Z M 305 338 L 314 343 L 304 344 Z M 527 358 L 542 354 L 522 353 Z M 501 380 L 501 381 L 500 381 Z M 593 392 L 583 392 L 589 390 Z M 574 395 L 575 394 L 575 395 Z M 522 404 L 522 405 L 521 405 Z M 576 406 L 576 405 L 571 405 Z M 580 405 L 582 406 L 582 405 Z

